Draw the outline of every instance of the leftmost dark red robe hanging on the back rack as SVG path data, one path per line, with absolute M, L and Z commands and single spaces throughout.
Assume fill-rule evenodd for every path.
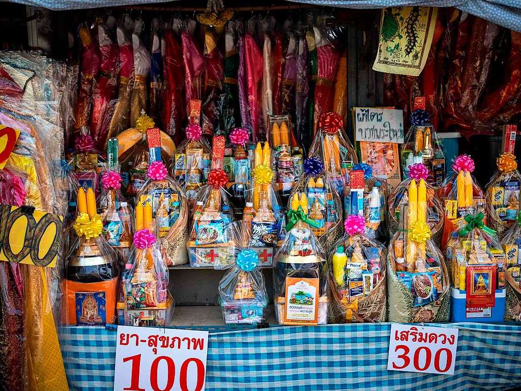
M 81 55 L 80 87 L 75 106 L 75 135 L 80 133 L 82 127 L 89 124 L 89 114 L 92 106 L 92 87 L 94 78 L 100 70 L 100 50 L 92 39 L 91 32 L 85 26 L 79 29 L 83 52 Z

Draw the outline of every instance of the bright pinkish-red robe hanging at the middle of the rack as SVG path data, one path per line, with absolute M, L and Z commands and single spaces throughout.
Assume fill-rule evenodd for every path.
M 248 91 L 248 104 L 252 121 L 252 140 L 258 141 L 260 136 L 259 123 L 261 116 L 261 80 L 263 74 L 263 58 L 252 34 L 244 36 L 244 51 L 246 58 L 246 81 Z

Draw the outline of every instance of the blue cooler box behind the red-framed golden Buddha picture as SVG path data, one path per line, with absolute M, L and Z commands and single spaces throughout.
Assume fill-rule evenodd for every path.
M 469 314 L 467 317 L 467 295 L 465 290 L 451 287 L 452 321 L 453 322 L 503 322 L 505 317 L 505 289 L 495 291 L 495 306 L 481 313 Z

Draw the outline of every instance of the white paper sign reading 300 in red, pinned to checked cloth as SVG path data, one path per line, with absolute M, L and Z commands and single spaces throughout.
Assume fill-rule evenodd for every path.
M 393 323 L 387 369 L 453 375 L 457 328 Z

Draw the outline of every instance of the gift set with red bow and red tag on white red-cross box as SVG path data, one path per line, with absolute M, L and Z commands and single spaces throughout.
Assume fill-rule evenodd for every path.
M 234 256 L 229 225 L 233 211 L 226 193 L 228 175 L 222 169 L 225 137 L 215 136 L 212 145 L 212 170 L 208 184 L 197 193 L 192 228 L 188 241 L 190 266 L 219 267 Z

